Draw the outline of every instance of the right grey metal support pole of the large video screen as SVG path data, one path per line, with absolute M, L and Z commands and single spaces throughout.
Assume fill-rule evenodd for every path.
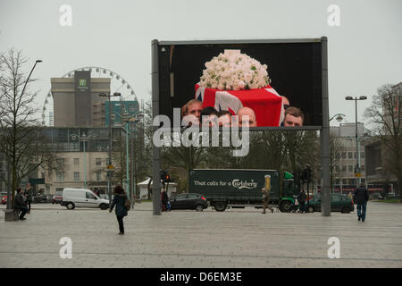
M 322 130 L 321 139 L 321 207 L 322 216 L 331 215 L 331 192 L 330 192 L 330 113 L 328 100 L 328 38 L 322 37 Z

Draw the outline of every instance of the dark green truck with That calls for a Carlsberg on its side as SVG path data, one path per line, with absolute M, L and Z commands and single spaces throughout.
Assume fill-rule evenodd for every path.
M 282 176 L 283 180 L 280 180 Z M 226 208 L 263 206 L 266 178 L 269 177 L 270 204 L 281 212 L 289 212 L 299 192 L 290 172 L 254 169 L 194 169 L 189 172 L 189 193 L 205 196 L 208 204 L 218 212 Z M 281 184 L 281 188 L 280 188 Z

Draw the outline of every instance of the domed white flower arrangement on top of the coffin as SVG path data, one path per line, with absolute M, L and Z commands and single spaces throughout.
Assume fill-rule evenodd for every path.
M 222 90 L 264 88 L 270 84 L 267 65 L 239 50 L 225 50 L 205 63 L 199 86 Z

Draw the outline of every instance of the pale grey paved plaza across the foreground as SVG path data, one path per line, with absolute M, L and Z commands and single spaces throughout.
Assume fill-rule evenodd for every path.
M 364 223 L 351 214 L 261 214 L 252 207 L 154 215 L 136 204 L 125 217 L 100 209 L 32 205 L 26 221 L 4 222 L 0 267 L 402 267 L 402 205 L 369 202 Z M 59 241 L 72 241 L 62 259 Z M 328 257 L 336 237 L 340 258 Z

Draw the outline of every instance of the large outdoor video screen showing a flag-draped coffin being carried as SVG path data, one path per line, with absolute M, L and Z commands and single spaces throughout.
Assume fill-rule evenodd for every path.
M 180 108 L 182 124 L 322 126 L 319 38 L 159 42 L 157 56 L 159 114 L 171 122 Z

